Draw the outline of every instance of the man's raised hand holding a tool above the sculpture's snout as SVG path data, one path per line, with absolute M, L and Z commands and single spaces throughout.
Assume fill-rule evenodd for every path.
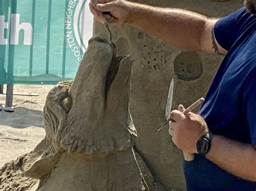
M 93 2 L 97 2 L 95 5 Z M 100 21 L 99 15 L 96 10 L 103 12 L 107 23 L 123 24 L 129 21 L 132 14 L 133 4 L 122 0 L 91 0 L 89 6 L 95 18 Z

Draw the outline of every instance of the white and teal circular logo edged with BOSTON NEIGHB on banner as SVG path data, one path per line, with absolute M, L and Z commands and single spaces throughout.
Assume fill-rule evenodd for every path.
M 88 37 L 92 33 L 92 19 L 86 0 L 69 0 L 66 5 L 66 41 L 78 61 L 83 59 Z

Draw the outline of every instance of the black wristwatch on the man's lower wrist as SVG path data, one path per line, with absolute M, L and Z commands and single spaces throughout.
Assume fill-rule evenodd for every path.
M 197 141 L 197 152 L 201 155 L 206 155 L 211 148 L 211 139 L 213 138 L 211 132 L 206 133 L 203 137 Z

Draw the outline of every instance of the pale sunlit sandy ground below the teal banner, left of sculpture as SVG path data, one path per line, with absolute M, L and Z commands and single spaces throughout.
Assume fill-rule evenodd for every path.
M 0 168 L 28 153 L 44 138 L 43 107 L 53 86 L 15 85 L 15 92 L 38 93 L 39 96 L 14 95 L 14 112 L 0 111 Z M 5 95 L 0 94 L 4 107 Z

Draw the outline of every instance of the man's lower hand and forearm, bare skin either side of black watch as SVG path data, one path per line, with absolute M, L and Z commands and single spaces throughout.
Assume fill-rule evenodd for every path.
M 181 150 L 197 153 L 198 139 L 208 132 L 207 124 L 201 116 L 182 114 L 183 106 L 171 112 L 169 134 Z M 205 156 L 225 171 L 249 181 L 256 181 L 256 146 L 243 144 L 225 137 L 215 136 L 211 140 L 210 151 Z

